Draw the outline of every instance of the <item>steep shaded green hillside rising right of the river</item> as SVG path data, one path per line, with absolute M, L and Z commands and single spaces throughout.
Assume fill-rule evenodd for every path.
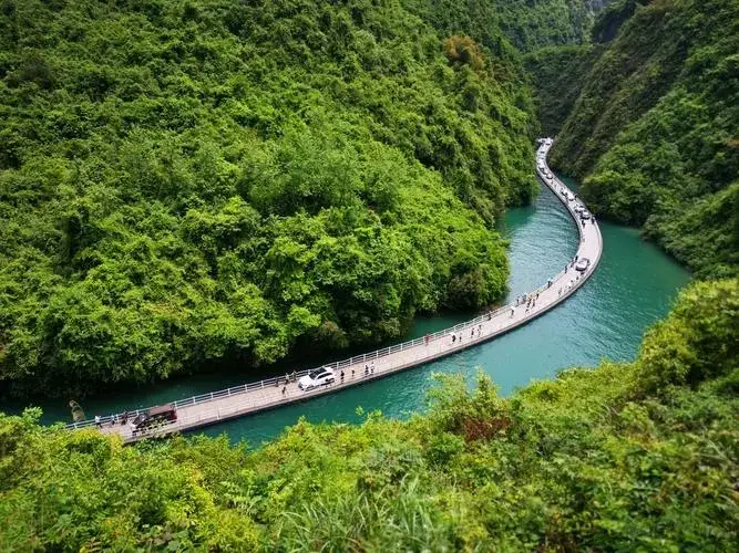
M 624 0 L 596 32 L 610 28 L 553 164 L 699 275 L 737 274 L 739 2 Z

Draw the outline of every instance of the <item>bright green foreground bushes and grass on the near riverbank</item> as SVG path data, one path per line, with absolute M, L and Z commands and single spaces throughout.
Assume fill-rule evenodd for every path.
M 634 363 L 510 399 L 451 379 L 408 422 L 300 421 L 255 452 L 0 416 L 0 549 L 730 551 L 738 326 L 739 282 L 697 283 Z

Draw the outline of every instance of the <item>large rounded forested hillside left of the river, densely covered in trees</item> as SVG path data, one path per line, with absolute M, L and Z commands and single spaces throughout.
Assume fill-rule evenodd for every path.
M 504 292 L 523 69 L 400 1 L 0 10 L 0 382 L 78 394 Z

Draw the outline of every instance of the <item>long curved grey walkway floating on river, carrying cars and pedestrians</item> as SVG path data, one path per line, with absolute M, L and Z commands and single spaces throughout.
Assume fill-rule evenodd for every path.
M 174 401 L 173 405 L 177 409 L 177 420 L 166 426 L 150 429 L 145 434 L 134 435 L 132 427 L 129 425 L 111 425 L 110 417 L 104 417 L 101 420 L 102 430 L 106 434 L 120 434 L 125 442 L 133 442 L 143 438 L 191 430 L 289 403 L 331 394 L 475 346 L 526 324 L 562 303 L 593 274 L 603 253 L 603 239 L 601 229 L 594 219 L 585 221 L 584 225 L 579 220 L 575 209 L 584 206 L 575 198 L 574 194 L 555 176 L 547 178 L 547 174 L 551 173 L 546 165 L 546 154 L 550 148 L 551 144 L 545 140 L 541 142 L 536 156 L 536 171 L 540 179 L 554 191 L 572 216 L 579 233 L 579 248 L 576 259 L 587 258 L 591 261 L 586 271 L 578 272 L 575 270 L 574 263 L 571 263 L 566 268 L 563 267 L 563 270 L 547 283 L 526 294 L 524 301 L 517 299 L 514 303 L 451 328 L 326 365 L 336 372 L 336 383 L 329 386 L 310 392 L 298 389 L 297 378 L 309 372 L 300 371 L 294 373 L 294 377 L 289 382 L 286 382 L 285 377 L 270 378 Z M 528 306 L 530 298 L 535 299 L 531 306 Z M 455 336 L 455 338 L 452 338 L 452 336 Z M 343 374 L 343 377 L 341 377 L 341 374 Z M 138 414 L 137 410 L 131 411 L 129 414 L 130 420 L 136 414 Z M 68 427 L 82 428 L 94 424 L 93 420 L 85 420 L 84 422 L 68 425 Z

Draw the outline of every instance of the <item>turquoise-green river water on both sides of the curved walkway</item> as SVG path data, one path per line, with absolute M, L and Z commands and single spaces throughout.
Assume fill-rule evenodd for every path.
M 564 179 L 568 186 L 574 182 Z M 532 323 L 475 348 L 415 367 L 382 380 L 350 388 L 302 404 L 289 405 L 250 417 L 202 429 L 208 435 L 227 432 L 233 441 L 258 446 L 276 437 L 300 417 L 318 421 L 357 422 L 358 407 L 406 418 L 424 408 L 433 373 L 462 373 L 472 378 L 479 369 L 489 374 L 503 395 L 532 379 L 551 378 L 558 369 L 592 367 L 604 358 L 633 359 L 644 330 L 661 319 L 689 274 L 636 229 L 599 221 L 604 254 L 595 274 L 574 296 Z M 533 206 L 509 210 L 501 232 L 511 240 L 510 296 L 533 290 L 564 268 L 576 250 L 577 230 L 565 209 L 547 189 Z M 415 320 L 409 337 L 441 330 L 471 319 L 445 314 Z M 246 380 L 258 379 L 255 377 Z M 115 396 L 88 398 L 88 416 L 146 407 L 237 384 L 236 375 L 198 375 Z M 37 401 L 38 404 L 38 401 Z M 10 411 L 20 406 L 10 406 Z M 44 422 L 70 420 L 63 400 L 44 400 Z

